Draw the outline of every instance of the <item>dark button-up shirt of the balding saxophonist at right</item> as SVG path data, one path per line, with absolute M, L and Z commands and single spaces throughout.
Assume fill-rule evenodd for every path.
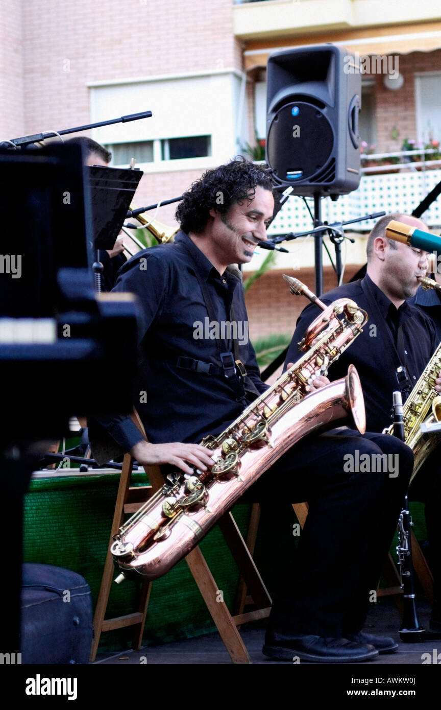
M 354 300 L 369 320 L 362 334 L 330 366 L 329 378 L 345 377 L 349 365 L 355 365 L 363 388 L 367 431 L 381 432 L 391 424 L 392 393 L 400 389 L 396 369 L 406 367 L 413 388 L 437 346 L 435 327 L 428 316 L 406 301 L 397 309 L 368 275 L 335 288 L 320 300 L 328 305 L 337 298 Z M 313 304 L 301 312 L 286 363 L 301 356 L 298 342 L 318 315 L 320 311 Z

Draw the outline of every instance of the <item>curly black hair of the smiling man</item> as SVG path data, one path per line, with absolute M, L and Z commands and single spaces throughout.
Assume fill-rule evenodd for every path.
M 200 234 L 210 209 L 225 214 L 233 204 L 243 204 L 245 200 L 250 204 L 257 186 L 272 192 L 272 170 L 268 165 L 255 165 L 238 155 L 230 163 L 203 173 L 201 179 L 184 192 L 175 217 L 187 234 Z

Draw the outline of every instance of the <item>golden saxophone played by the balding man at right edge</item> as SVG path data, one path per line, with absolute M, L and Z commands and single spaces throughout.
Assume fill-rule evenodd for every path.
M 435 288 L 441 290 L 440 284 L 425 276 L 419 277 L 425 290 Z M 441 370 L 441 343 L 425 366 L 423 374 L 415 384 L 411 394 L 403 405 L 404 442 L 413 450 L 413 471 L 411 481 L 415 478 L 428 455 L 441 442 L 439 432 L 423 433 L 421 425 L 430 427 L 440 421 L 441 397 L 435 390 L 435 379 Z M 430 411 L 432 413 L 430 413 Z M 384 429 L 384 434 L 393 434 L 393 425 Z

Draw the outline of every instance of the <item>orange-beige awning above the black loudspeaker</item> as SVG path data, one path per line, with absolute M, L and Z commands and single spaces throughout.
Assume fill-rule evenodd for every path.
M 287 43 L 286 40 L 274 40 L 272 46 L 256 46 L 256 48 L 252 48 L 252 45 L 257 45 L 257 43 L 250 43 L 249 48 L 244 52 L 245 69 L 249 70 L 257 66 L 266 67 L 269 55 L 277 50 L 307 47 L 326 42 L 347 47 L 360 55 L 410 54 L 411 52 L 431 52 L 441 49 L 441 23 L 430 23 L 430 29 L 425 31 L 421 29 L 417 31 L 417 28 L 418 26 L 402 27 L 400 32 L 393 32 L 395 28 L 381 28 L 382 31 L 371 36 L 363 36 L 369 32 L 366 30 L 353 31 L 347 33 L 345 38 L 342 37 L 341 32 L 325 33 L 316 35 L 314 38 L 311 38 L 311 35 L 302 35 L 293 39 L 291 43 Z M 263 43 L 261 42 L 261 44 Z

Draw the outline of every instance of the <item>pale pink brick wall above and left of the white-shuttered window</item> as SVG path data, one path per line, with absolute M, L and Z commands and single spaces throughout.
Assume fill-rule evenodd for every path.
M 26 0 L 26 131 L 87 123 L 87 82 L 241 61 L 230 0 Z

